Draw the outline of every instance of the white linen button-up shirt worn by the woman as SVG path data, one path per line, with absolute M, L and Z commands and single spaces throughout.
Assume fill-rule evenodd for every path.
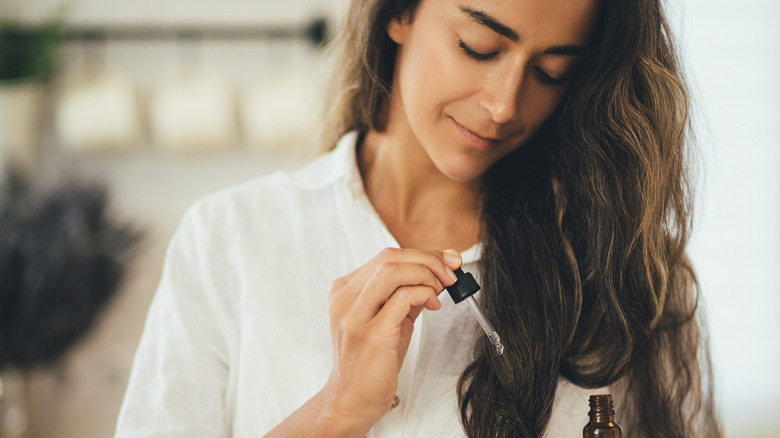
M 166 254 L 116 438 L 259 437 L 323 387 L 330 283 L 398 247 L 365 195 L 357 137 L 296 172 L 190 207 Z M 475 276 L 479 252 L 462 254 Z M 400 405 L 369 437 L 464 436 L 456 385 L 484 334 L 468 306 L 440 299 L 415 322 Z M 545 436 L 581 436 L 588 395 L 599 392 L 561 379 Z

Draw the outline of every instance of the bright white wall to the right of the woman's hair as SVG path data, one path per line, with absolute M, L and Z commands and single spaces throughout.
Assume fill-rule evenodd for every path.
M 703 172 L 690 253 L 728 437 L 780 431 L 780 2 L 684 3 Z M 679 16 L 678 16 L 679 18 Z

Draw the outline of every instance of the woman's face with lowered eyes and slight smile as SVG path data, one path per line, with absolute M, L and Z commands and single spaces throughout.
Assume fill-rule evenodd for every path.
M 458 181 L 478 179 L 563 99 L 597 0 L 422 0 L 399 44 L 387 130 Z

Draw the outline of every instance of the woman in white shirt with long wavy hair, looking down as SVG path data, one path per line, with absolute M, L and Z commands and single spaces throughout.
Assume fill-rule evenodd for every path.
M 578 436 L 602 391 L 718 436 L 659 2 L 363 0 L 341 41 L 335 150 L 185 216 L 117 436 Z

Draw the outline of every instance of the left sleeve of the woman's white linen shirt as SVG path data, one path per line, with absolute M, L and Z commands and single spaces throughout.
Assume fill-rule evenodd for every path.
M 230 434 L 225 392 L 231 318 L 207 261 L 211 231 L 193 207 L 168 247 L 115 438 Z

